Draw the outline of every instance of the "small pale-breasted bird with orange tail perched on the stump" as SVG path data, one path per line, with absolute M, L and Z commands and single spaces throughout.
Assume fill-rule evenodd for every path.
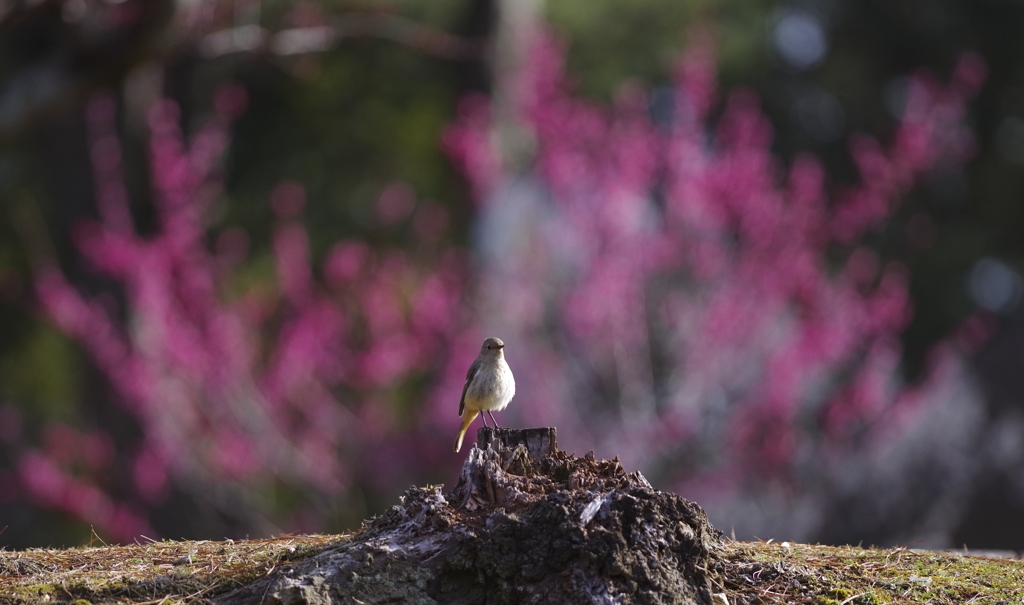
M 486 412 L 490 422 L 495 423 L 495 428 L 498 428 L 498 421 L 490 413 L 505 409 L 515 396 L 515 379 L 512 378 L 509 364 L 505 362 L 505 353 L 502 351 L 504 348 L 502 339 L 486 339 L 480 345 L 480 354 L 466 373 L 466 385 L 462 387 L 462 400 L 459 401 L 462 426 L 459 427 L 459 436 L 455 440 L 456 451 L 462 449 L 466 429 L 481 412 Z M 483 420 L 483 426 L 487 426 L 487 421 L 482 416 L 480 420 Z

